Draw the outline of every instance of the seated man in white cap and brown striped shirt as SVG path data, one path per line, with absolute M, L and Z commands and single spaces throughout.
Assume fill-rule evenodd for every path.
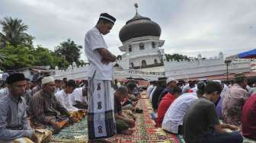
M 48 128 L 53 129 L 53 132 L 58 132 L 65 121 L 72 121 L 68 110 L 56 100 L 54 91 L 55 82 L 53 77 L 44 77 L 42 79 L 42 90 L 31 98 L 30 121 L 34 123 L 35 128 Z

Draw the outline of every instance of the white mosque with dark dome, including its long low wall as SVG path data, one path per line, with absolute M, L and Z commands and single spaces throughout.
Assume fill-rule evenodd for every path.
M 142 17 L 137 11 L 138 6 L 135 7 L 135 16 L 126 21 L 119 33 L 123 43 L 119 49 L 123 55 L 114 63 L 115 78 L 223 79 L 226 78 L 227 68 L 229 75 L 232 75 L 238 72 L 251 73 L 252 65 L 256 65 L 248 60 L 232 60 L 231 63 L 225 63 L 222 52 L 219 52 L 219 56 L 209 59 L 202 59 L 199 54 L 197 59 L 190 61 L 167 61 L 163 48 L 165 40 L 160 40 L 161 27 L 149 17 Z M 55 77 L 87 78 L 87 70 L 88 66 L 77 67 L 73 63 L 66 71 L 60 71 L 56 67 Z

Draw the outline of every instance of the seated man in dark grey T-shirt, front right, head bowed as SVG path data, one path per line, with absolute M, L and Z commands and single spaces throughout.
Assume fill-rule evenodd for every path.
M 194 101 L 183 119 L 183 136 L 187 143 L 242 143 L 238 126 L 220 124 L 215 110 L 222 87 L 218 82 L 209 81 L 203 97 Z M 231 129 L 236 132 L 226 132 Z

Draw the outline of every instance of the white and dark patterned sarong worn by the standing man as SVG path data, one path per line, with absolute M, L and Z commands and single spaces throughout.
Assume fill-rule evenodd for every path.
M 111 81 L 89 78 L 88 83 L 88 138 L 109 138 L 116 134 Z

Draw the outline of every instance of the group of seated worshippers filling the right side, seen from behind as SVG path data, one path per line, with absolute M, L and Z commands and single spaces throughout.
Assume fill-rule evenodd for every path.
M 184 135 L 186 142 L 242 142 L 243 136 L 256 139 L 252 85 L 242 73 L 235 74 L 232 84 L 168 78 L 165 84 L 150 82 L 146 95 L 155 127 Z

